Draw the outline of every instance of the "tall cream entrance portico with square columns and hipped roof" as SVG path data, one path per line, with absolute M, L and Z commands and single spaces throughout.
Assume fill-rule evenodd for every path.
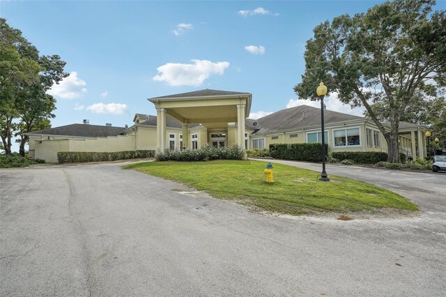
M 157 149 L 160 151 L 167 148 L 167 115 L 183 124 L 183 148 L 192 148 L 194 134 L 189 135 L 190 124 L 226 133 L 229 126 L 236 125 L 233 143 L 227 145 L 245 148 L 245 119 L 251 110 L 251 93 L 206 89 L 148 100 L 153 102 L 157 111 Z M 205 143 L 209 143 L 208 133 L 204 135 Z

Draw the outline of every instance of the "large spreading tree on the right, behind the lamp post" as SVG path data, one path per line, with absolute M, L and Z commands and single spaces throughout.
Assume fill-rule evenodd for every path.
M 364 106 L 385 137 L 388 161 L 399 162 L 399 121 L 410 107 L 445 93 L 446 17 L 433 12 L 434 5 L 395 0 L 316 26 L 295 92 L 317 100 L 315 89 L 323 81 L 344 104 Z

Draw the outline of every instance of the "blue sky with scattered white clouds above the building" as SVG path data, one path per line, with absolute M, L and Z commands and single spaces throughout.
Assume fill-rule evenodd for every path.
M 382 2 L 0 0 L 0 16 L 40 55 L 66 61 L 70 76 L 50 91 L 57 100 L 53 127 L 84 119 L 123 127 L 135 113 L 156 114 L 147 98 L 201 89 L 252 93 L 252 119 L 320 107 L 293 91 L 312 30 Z M 445 8 L 438 1 L 436 9 Z M 343 105 L 335 93 L 325 105 L 358 116 L 364 110 Z

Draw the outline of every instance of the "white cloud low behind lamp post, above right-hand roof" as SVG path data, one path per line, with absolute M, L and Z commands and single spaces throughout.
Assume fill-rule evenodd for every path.
M 365 107 L 356 107 L 351 109 L 350 105 L 345 105 L 337 98 L 337 93 L 330 93 L 330 96 L 324 98 L 324 104 L 327 107 L 327 110 L 331 110 L 332 112 L 342 112 L 344 114 L 351 114 L 353 116 L 364 116 Z M 312 101 L 312 100 L 299 100 L 299 99 L 290 99 L 286 108 L 296 107 L 300 105 L 309 105 L 316 108 L 321 108 L 321 101 Z

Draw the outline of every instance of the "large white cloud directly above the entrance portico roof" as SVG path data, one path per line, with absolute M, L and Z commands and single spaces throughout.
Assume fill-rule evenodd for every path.
M 167 82 L 169 86 L 200 86 L 210 75 L 222 75 L 229 62 L 213 63 L 207 60 L 191 60 L 191 64 L 166 63 L 156 68 L 155 82 Z

